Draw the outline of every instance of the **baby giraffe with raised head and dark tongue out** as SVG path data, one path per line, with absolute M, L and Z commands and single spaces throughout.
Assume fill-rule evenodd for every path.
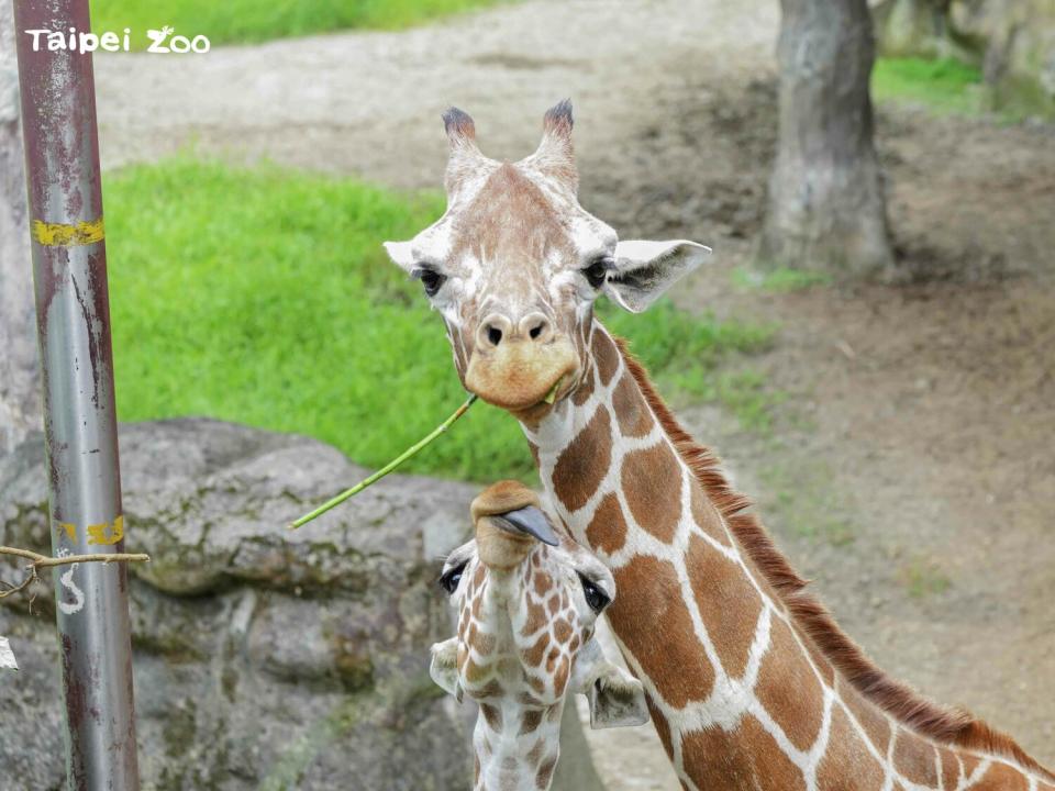
M 546 791 L 568 693 L 587 695 L 596 728 L 648 720 L 641 682 L 606 658 L 593 633 L 615 581 L 557 536 L 521 483 L 489 487 L 471 512 L 476 538 L 451 553 L 440 578 L 458 634 L 432 647 L 432 678 L 479 703 L 477 791 Z

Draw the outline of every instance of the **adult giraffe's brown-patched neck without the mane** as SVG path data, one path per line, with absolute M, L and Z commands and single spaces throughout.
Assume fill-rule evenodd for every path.
M 559 516 L 614 573 L 609 622 L 687 788 L 984 789 L 1024 777 L 1012 760 L 940 746 L 846 682 L 775 588 L 774 575 L 798 578 L 782 559 L 763 573 L 731 530 L 746 500 L 707 471 L 713 461 L 679 449 L 598 322 L 589 343 L 582 385 L 524 432 Z M 701 475 L 720 482 L 704 488 Z M 760 528 L 753 539 L 768 543 Z

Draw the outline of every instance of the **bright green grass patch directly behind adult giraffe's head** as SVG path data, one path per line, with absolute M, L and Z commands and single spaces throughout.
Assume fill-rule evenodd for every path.
M 380 244 L 442 210 L 435 194 L 189 158 L 109 177 L 121 420 L 211 415 L 309 434 L 367 466 L 389 460 L 465 399 L 440 316 Z M 666 300 L 604 314 L 660 387 L 753 409 L 754 385 L 710 374 L 771 330 Z M 481 402 L 409 469 L 489 481 L 532 464 L 515 422 Z

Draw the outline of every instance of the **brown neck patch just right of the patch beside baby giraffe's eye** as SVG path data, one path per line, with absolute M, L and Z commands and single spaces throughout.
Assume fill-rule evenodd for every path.
M 699 536 L 689 537 L 685 561 L 696 605 L 722 667 L 738 678 L 747 667 L 747 655 L 762 613 L 762 597 L 740 566 Z

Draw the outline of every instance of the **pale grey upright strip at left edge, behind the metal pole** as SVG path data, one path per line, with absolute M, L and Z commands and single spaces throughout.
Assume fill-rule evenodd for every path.
M 0 455 L 41 425 L 13 5 L 0 0 Z

